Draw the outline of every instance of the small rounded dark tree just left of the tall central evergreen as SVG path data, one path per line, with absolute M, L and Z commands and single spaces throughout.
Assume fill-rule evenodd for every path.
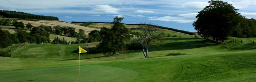
M 88 34 L 88 42 L 98 42 L 101 41 L 101 37 L 100 37 L 100 31 L 98 30 L 92 30 L 89 34 Z

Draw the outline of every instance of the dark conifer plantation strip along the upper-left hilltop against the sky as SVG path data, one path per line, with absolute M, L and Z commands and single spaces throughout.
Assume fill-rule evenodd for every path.
M 59 20 L 58 17 L 52 17 L 52 16 L 40 16 L 25 12 L 16 12 L 16 11 L 5 11 L 0 10 L 0 15 L 6 17 L 6 18 L 21 18 L 21 19 L 42 19 L 42 20 Z

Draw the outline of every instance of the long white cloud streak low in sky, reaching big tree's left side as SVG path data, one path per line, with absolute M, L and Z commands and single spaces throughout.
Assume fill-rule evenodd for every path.
M 149 17 L 149 20 L 158 20 L 165 22 L 177 22 L 177 23 L 191 23 L 196 21 L 196 14 L 198 13 L 187 13 L 178 14 L 177 17 L 165 16 L 165 17 Z

